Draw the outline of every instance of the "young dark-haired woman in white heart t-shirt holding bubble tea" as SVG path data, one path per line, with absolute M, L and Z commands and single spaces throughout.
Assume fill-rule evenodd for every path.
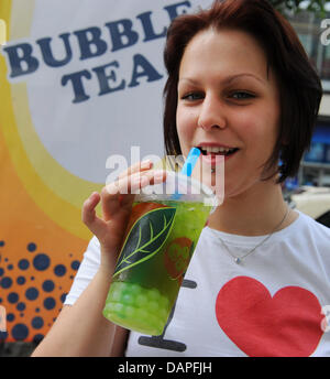
M 266 0 L 216 1 L 173 22 L 165 65 L 167 154 L 199 148 L 198 177 L 224 154 L 224 202 L 164 334 L 150 337 L 102 308 L 133 201 L 120 188 L 166 173 L 143 162 L 94 193 L 82 219 L 96 237 L 34 356 L 329 356 L 330 230 L 289 209 L 280 190 L 309 147 L 322 94 L 296 33 Z

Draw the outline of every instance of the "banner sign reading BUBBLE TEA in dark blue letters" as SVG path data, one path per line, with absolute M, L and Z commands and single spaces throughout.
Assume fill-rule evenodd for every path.
M 164 155 L 166 31 L 210 3 L 1 0 L 0 338 L 40 340 L 54 323 L 109 158 Z

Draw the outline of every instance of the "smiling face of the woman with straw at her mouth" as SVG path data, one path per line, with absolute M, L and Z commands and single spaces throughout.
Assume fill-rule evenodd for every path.
M 230 148 L 224 156 L 226 196 L 262 185 L 279 112 L 274 73 L 250 34 L 207 30 L 189 42 L 179 67 L 176 122 L 183 155 L 193 147 L 202 149 L 195 175 L 209 173 L 217 155 Z

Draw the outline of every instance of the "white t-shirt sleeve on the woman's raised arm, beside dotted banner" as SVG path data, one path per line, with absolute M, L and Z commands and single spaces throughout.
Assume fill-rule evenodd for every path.
M 64 305 L 73 305 L 80 296 L 89 282 L 92 280 L 100 266 L 100 242 L 92 237 L 84 253 L 84 259 L 79 266 L 69 293 L 66 295 Z

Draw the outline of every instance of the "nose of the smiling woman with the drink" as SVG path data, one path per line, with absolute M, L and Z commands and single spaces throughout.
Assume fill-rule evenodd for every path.
M 223 106 L 217 95 L 207 95 L 204 98 L 198 116 L 198 127 L 209 130 L 223 129 L 227 126 Z

